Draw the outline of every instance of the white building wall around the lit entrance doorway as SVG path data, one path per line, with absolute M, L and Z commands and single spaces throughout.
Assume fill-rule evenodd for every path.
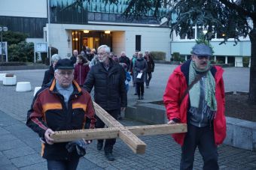
M 69 48 L 67 42 L 68 36 L 72 36 L 72 30 L 113 31 L 114 53 L 120 55 L 121 51 L 126 51 L 128 57 L 132 57 L 135 52 L 136 34 L 141 34 L 142 52 L 145 52 L 147 49 L 149 51 L 163 51 L 166 52 L 166 58 L 169 57 L 169 28 L 127 25 L 50 24 L 50 43 L 59 49 L 59 55 L 62 57 L 65 57 L 68 53 L 72 53 L 72 42 L 70 42 Z M 121 32 L 125 32 L 125 37 Z M 117 44 L 119 42 L 120 44 Z

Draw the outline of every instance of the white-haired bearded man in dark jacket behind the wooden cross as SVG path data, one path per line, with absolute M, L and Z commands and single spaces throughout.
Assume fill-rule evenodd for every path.
M 84 88 L 91 91 L 94 86 L 94 100 L 112 117 L 117 119 L 120 109 L 127 106 L 127 95 L 125 88 L 126 73 L 120 64 L 116 64 L 109 58 L 110 49 L 106 45 L 99 46 L 99 63 L 91 67 L 84 83 Z M 105 124 L 97 118 L 96 128 L 103 128 Z M 105 140 L 105 157 L 113 161 L 113 146 L 116 139 Z M 103 148 L 103 140 L 98 140 L 97 149 Z

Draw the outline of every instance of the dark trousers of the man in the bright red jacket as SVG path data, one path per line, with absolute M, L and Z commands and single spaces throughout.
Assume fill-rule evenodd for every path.
M 218 170 L 218 151 L 213 127 L 195 127 L 187 124 L 187 134 L 181 147 L 181 169 L 193 169 L 194 153 L 198 147 L 203 157 L 203 169 Z

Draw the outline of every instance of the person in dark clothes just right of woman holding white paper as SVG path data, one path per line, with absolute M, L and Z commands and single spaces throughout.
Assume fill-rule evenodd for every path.
M 154 60 L 151 58 L 151 55 L 148 51 L 145 51 L 144 55 L 145 60 L 147 61 L 147 70 L 145 74 L 146 88 L 149 87 L 149 82 L 152 79 L 152 72 L 154 72 Z

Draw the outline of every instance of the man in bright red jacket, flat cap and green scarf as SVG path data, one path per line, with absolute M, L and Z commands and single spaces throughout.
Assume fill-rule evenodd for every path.
M 203 169 L 219 169 L 217 145 L 226 136 L 224 70 L 210 65 L 209 46 L 197 44 L 192 53 L 191 60 L 169 76 L 163 94 L 168 124 L 187 124 L 187 133 L 172 135 L 181 145 L 180 169 L 193 169 L 197 147 L 203 157 Z

